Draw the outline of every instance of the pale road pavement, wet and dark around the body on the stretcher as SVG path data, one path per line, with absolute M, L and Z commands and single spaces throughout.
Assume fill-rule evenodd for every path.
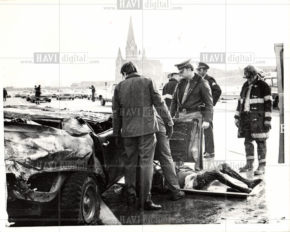
M 35 105 L 26 99 L 8 98 L 4 105 Z M 59 109 L 88 110 L 92 112 L 112 112 L 112 103 L 101 106 L 99 101 L 87 99 L 61 100 L 52 99 L 51 103 L 41 103 L 41 107 Z M 204 168 L 212 169 L 220 162 L 226 162 L 234 170 L 244 166 L 246 156 L 244 139 L 238 139 L 238 128 L 234 125 L 234 112 L 237 100 L 218 102 L 214 109 L 213 131 L 215 142 L 215 158 L 204 160 Z M 126 207 L 124 194 L 119 185 L 114 185 L 102 196 L 103 201 L 122 224 L 274 224 L 284 228 L 289 226 L 289 163 L 278 164 L 279 148 L 279 111 L 274 109 L 272 129 L 267 140 L 267 166 L 263 175 L 253 175 L 251 172 L 240 173 L 248 179 L 263 179 L 264 189 L 256 196 L 247 199 L 224 198 L 217 196 L 202 196 L 186 194 L 184 199 L 170 201 L 168 195 L 153 194 L 155 203 L 163 209 L 154 212 L 138 211 L 137 208 Z M 257 146 L 255 145 L 255 168 L 258 166 Z M 255 170 L 255 169 L 254 169 Z M 161 215 L 161 216 L 160 216 Z M 158 217 L 160 218 L 158 219 Z M 155 219 L 154 219 L 155 218 Z M 162 223 L 162 219 L 163 222 Z M 166 221 L 166 218 L 168 219 Z M 153 220 L 154 219 L 154 220 Z M 283 226 L 282 226 L 283 225 Z

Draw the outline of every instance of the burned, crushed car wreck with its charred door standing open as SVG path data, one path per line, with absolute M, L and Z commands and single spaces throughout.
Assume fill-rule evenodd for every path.
M 202 169 L 202 122 L 174 123 L 173 160 L 195 162 Z M 39 214 L 55 203 L 69 225 L 97 220 L 100 194 L 123 176 L 124 155 L 115 145 L 109 113 L 5 106 L 8 214 L 13 214 L 15 201 L 37 205 Z

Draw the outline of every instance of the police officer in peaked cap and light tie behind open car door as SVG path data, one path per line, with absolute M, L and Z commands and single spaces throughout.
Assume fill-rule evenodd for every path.
M 179 118 L 203 117 L 202 128 L 207 129 L 213 114 L 211 88 L 207 80 L 193 72 L 190 60 L 175 64 L 182 79 L 175 88 L 170 113 L 172 117 Z

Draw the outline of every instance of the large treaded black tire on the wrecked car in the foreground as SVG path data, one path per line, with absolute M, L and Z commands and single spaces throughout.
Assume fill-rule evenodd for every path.
M 61 192 L 60 217 L 65 225 L 84 225 L 99 218 L 99 185 L 93 174 L 78 171 L 68 177 Z

